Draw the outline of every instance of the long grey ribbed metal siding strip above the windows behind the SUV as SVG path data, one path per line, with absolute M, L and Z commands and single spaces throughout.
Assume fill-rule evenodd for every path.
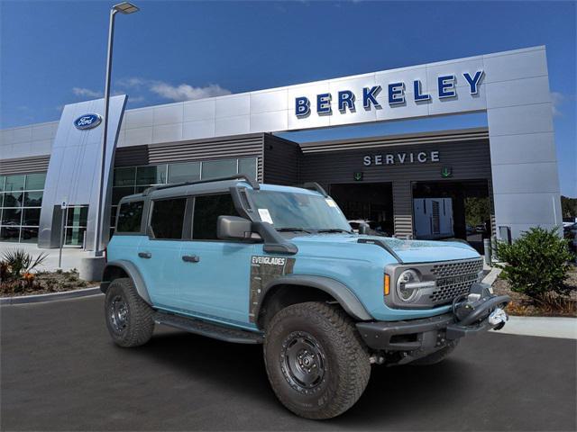
M 262 181 L 264 134 L 221 139 L 196 139 L 172 144 L 117 148 L 114 166 L 158 165 L 231 157 L 257 157 L 258 179 Z

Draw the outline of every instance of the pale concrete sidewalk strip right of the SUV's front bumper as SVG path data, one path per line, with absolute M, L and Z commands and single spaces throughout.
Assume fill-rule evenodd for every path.
M 577 339 L 577 319 L 553 317 L 509 317 L 505 327 L 494 332 L 506 333 L 509 335 Z

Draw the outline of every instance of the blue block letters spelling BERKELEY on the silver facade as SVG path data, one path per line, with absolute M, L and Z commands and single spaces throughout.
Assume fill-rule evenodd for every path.
M 474 74 L 468 72 L 463 73 L 465 80 L 469 85 L 470 94 L 479 93 L 479 85 L 481 78 L 484 75 L 483 70 L 478 70 Z M 457 91 L 455 88 L 456 76 L 444 75 L 437 76 L 437 90 L 438 98 L 446 99 L 456 97 Z M 416 79 L 412 82 L 413 100 L 416 103 L 423 103 L 431 100 L 431 94 L 423 93 L 420 80 Z M 402 81 L 390 83 L 388 86 L 387 102 L 390 106 L 398 106 L 407 103 L 406 85 Z M 380 95 L 382 91 L 381 85 L 373 85 L 371 87 L 362 88 L 362 107 L 365 110 L 371 110 L 371 107 L 380 109 Z M 356 111 L 355 103 L 357 95 L 351 90 L 342 90 L 336 94 L 337 108 L 341 113 L 345 113 L 347 109 L 350 112 Z M 333 94 L 323 93 L 316 94 L 316 113 L 319 115 L 330 115 L 333 113 L 331 103 L 333 102 Z M 295 114 L 297 117 L 307 117 L 311 113 L 311 102 L 307 96 L 298 96 L 295 98 Z

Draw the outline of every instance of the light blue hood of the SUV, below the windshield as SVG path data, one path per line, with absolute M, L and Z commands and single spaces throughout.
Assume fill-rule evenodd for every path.
M 469 259 L 479 257 L 475 249 L 466 243 L 459 241 L 433 241 L 433 240 L 402 240 L 399 238 L 379 237 L 379 236 L 359 236 L 357 234 L 317 234 L 307 236 L 297 236 L 289 239 L 297 247 L 310 247 L 324 245 L 326 247 L 342 247 L 350 244 L 355 252 L 362 253 L 362 250 L 371 250 L 382 247 L 374 244 L 358 243 L 359 239 L 375 240 L 384 242 L 403 263 L 430 263 L 436 261 L 453 261 L 457 259 Z M 353 246 L 354 245 L 354 246 Z M 365 249 L 370 248 L 370 249 Z M 384 252 L 384 249 L 382 249 Z M 369 253 L 367 254 L 369 255 Z

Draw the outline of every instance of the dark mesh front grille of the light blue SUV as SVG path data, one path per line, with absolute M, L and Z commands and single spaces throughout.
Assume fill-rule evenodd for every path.
M 431 273 L 436 276 L 437 288 L 429 295 L 429 300 L 438 305 L 453 302 L 455 297 L 469 293 L 482 268 L 482 258 L 435 264 Z

